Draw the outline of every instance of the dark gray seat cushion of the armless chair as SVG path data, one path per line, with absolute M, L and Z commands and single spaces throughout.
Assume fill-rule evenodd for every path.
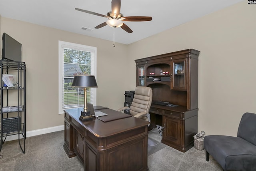
M 256 146 L 240 137 L 208 135 L 204 148 L 224 170 L 256 170 Z

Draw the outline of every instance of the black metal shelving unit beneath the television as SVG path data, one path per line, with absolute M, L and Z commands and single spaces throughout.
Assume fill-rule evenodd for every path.
M 0 151 L 7 136 L 18 135 L 20 149 L 25 153 L 26 139 L 26 64 L 10 60 L 0 60 Z M 4 74 L 13 75 L 16 85 L 7 87 Z

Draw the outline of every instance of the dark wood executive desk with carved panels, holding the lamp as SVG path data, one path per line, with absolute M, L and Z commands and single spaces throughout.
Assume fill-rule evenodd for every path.
M 64 110 L 63 146 L 68 157 L 77 155 L 85 171 L 148 170 L 148 121 L 135 117 L 108 122 L 97 118 L 80 121 L 81 110 Z M 112 109 L 96 111 L 107 113 L 108 117 L 127 115 Z

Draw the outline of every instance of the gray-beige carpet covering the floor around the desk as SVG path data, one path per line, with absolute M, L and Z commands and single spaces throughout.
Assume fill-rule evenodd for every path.
M 150 171 L 222 171 L 212 157 L 205 160 L 205 151 L 194 147 L 186 153 L 158 143 L 158 132 L 149 132 L 148 168 Z M 156 144 L 155 146 L 152 146 Z M 3 145 L 0 171 L 83 171 L 77 157 L 68 158 L 64 149 L 64 131 L 28 137 L 26 153 L 17 140 Z

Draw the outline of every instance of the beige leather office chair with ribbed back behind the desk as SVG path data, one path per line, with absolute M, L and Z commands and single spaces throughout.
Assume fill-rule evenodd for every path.
M 138 86 L 135 88 L 134 98 L 130 107 L 121 107 L 117 111 L 129 109 L 130 114 L 134 117 L 146 119 L 150 122 L 150 114 L 148 113 L 152 103 L 152 89 L 150 87 Z

